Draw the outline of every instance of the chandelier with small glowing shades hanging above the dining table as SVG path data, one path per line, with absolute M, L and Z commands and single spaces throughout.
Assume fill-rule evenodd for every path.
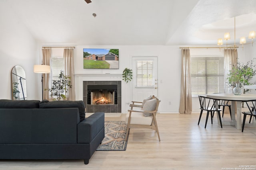
M 240 45 L 242 45 L 243 49 L 244 49 L 244 45 L 246 45 L 246 44 L 252 44 L 253 45 L 253 39 L 255 38 L 255 31 L 250 31 L 248 38 L 252 39 L 252 42 L 246 43 L 246 38 L 245 37 L 240 38 Z M 229 32 L 224 33 L 224 40 L 226 40 L 226 47 L 220 47 L 220 48 L 227 48 L 227 47 L 238 48 L 238 46 L 240 46 L 240 45 L 236 45 L 236 17 L 234 17 L 234 45 L 228 44 L 229 39 L 230 39 Z M 218 45 L 219 46 L 223 45 L 222 38 L 218 39 Z

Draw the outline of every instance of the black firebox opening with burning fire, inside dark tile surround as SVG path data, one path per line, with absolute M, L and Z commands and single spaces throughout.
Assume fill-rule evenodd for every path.
M 88 85 L 87 104 L 117 104 L 117 85 Z

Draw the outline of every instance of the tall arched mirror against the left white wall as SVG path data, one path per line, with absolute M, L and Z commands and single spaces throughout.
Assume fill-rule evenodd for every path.
M 12 100 L 26 100 L 26 74 L 21 66 L 14 66 L 11 73 Z

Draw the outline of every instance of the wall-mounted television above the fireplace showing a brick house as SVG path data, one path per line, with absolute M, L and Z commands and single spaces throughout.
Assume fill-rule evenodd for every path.
M 84 69 L 118 69 L 119 49 L 83 49 Z

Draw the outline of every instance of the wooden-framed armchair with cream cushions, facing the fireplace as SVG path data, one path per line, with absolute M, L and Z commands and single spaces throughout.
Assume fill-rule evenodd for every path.
M 126 130 L 126 137 L 125 141 L 128 139 L 130 128 L 146 128 L 155 130 L 158 139 L 160 141 L 160 135 L 158 131 L 158 126 L 156 122 L 156 113 L 158 111 L 160 100 L 158 98 L 154 98 L 151 100 L 147 100 L 142 106 L 141 110 L 138 109 L 129 109 L 128 114 L 126 115 L 126 123 L 127 123 L 127 130 Z M 134 107 L 131 106 L 130 107 Z

